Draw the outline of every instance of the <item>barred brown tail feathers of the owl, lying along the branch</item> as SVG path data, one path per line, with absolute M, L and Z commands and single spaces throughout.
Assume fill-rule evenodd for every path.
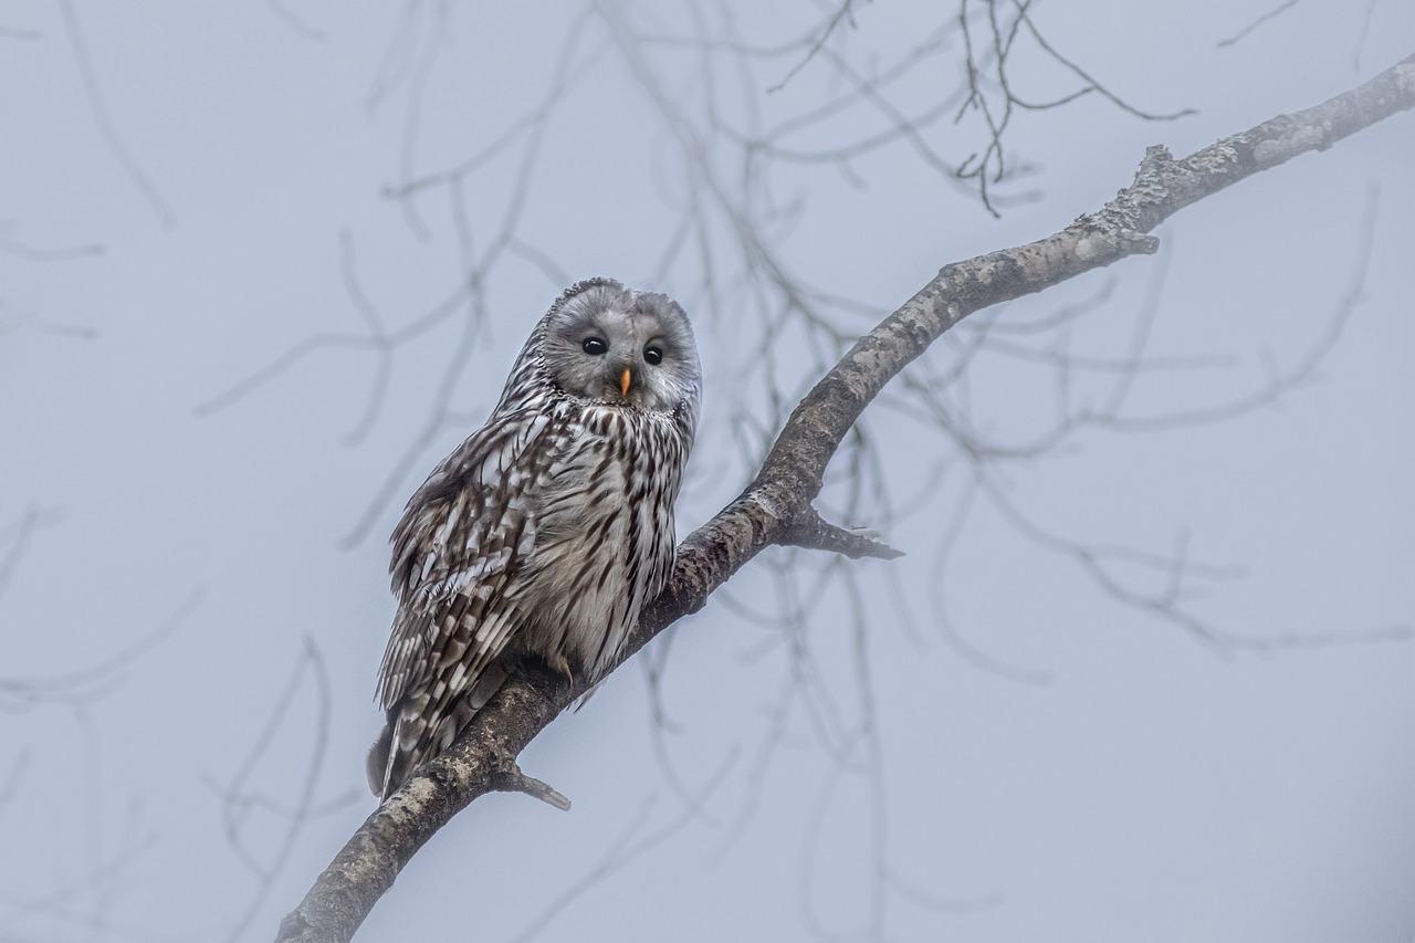
M 443 753 L 477 711 L 487 705 L 511 673 L 504 658 L 488 664 L 470 691 L 432 701 L 426 692 L 408 694 L 388 709 L 383 732 L 368 750 L 368 787 L 381 800 L 393 794 L 422 763 Z

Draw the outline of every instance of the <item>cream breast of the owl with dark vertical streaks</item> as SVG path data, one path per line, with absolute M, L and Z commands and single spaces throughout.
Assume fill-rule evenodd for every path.
M 691 432 L 671 415 L 603 405 L 582 406 L 576 425 L 535 501 L 521 643 L 593 682 L 668 582 Z

